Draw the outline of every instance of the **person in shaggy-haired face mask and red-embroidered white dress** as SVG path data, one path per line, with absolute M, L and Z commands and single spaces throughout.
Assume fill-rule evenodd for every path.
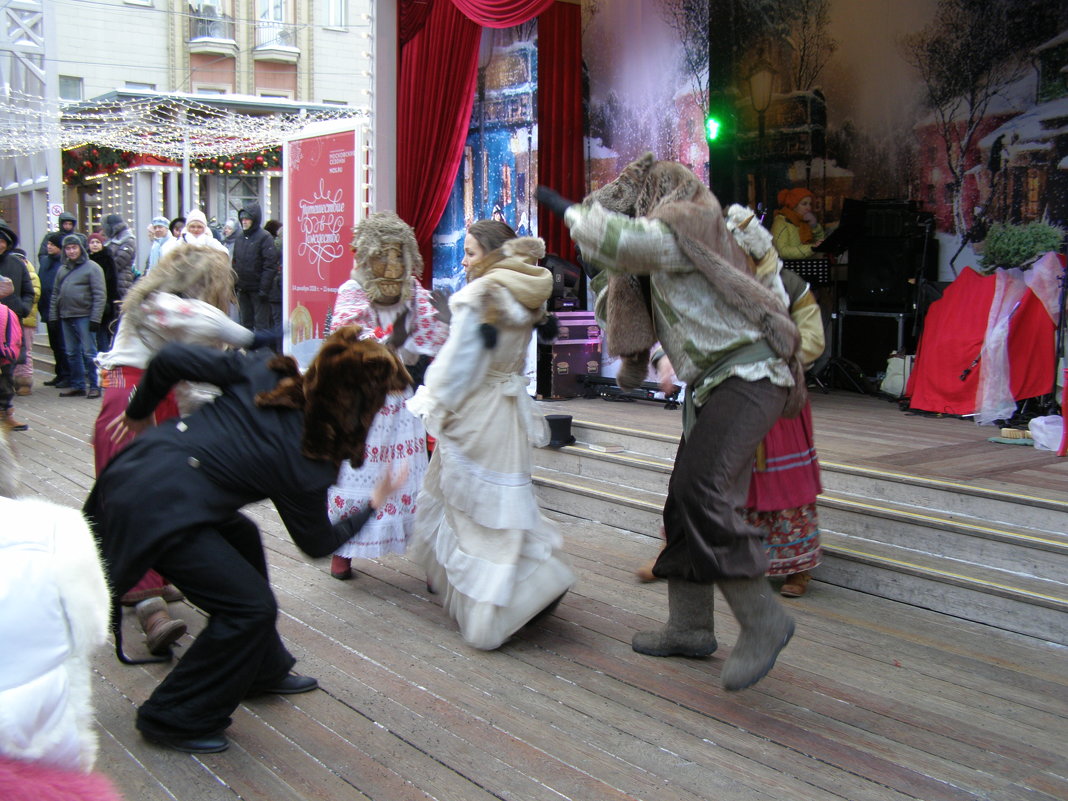
M 337 289 L 330 317 L 331 329 L 362 327 L 363 337 L 388 345 L 411 372 L 433 357 L 449 335 L 447 312 L 442 298 L 419 283 L 423 257 L 415 232 L 393 211 L 378 211 L 354 229 L 356 266 L 351 278 Z M 415 519 L 415 497 L 426 472 L 426 431 L 405 408 L 409 388 L 392 392 L 367 431 L 363 467 L 342 464 L 337 483 L 328 496 L 330 521 L 359 514 L 371 501 L 371 492 L 392 465 L 408 466 L 402 489 L 366 522 L 360 532 L 336 550 L 330 562 L 335 579 L 352 578 L 354 559 L 376 559 L 404 553 Z

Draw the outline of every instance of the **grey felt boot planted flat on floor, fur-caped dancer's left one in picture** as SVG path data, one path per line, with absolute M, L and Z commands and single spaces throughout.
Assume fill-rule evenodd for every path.
M 637 632 L 631 647 L 651 657 L 707 657 L 717 646 L 714 591 L 714 584 L 668 579 L 668 625 Z

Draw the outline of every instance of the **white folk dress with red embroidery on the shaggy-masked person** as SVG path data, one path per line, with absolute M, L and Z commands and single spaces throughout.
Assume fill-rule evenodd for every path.
M 412 295 L 406 326 L 408 340 L 397 355 L 406 364 L 420 356 L 435 356 L 449 335 L 449 326 L 437 319 L 430 293 L 412 279 Z M 341 326 L 363 327 L 365 336 L 384 342 L 393 331 L 393 323 L 405 309 L 405 302 L 381 305 L 371 298 L 355 280 L 346 281 L 337 290 L 331 316 L 331 330 Z M 404 553 L 411 536 L 415 516 L 415 498 L 426 473 L 426 430 L 419 418 L 408 411 L 406 402 L 412 390 L 390 393 L 375 415 L 367 431 L 363 467 L 349 461 L 341 466 L 337 483 L 328 496 L 330 522 L 336 523 L 358 514 L 371 501 L 371 492 L 390 466 L 408 464 L 408 481 L 378 509 L 360 532 L 334 553 L 348 559 L 375 559 L 388 553 Z

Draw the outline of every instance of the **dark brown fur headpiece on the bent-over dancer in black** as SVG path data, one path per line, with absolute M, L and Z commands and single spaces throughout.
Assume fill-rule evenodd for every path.
M 256 405 L 303 410 L 301 452 L 310 459 L 363 465 L 367 430 L 386 395 L 411 384 L 400 360 L 374 339 L 361 340 L 360 332 L 359 326 L 343 326 L 330 334 L 303 375 L 293 357 L 268 362 L 282 379 L 260 393 Z

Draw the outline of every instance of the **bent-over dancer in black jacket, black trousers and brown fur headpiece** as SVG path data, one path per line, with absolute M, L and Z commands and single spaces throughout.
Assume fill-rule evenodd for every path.
M 208 623 L 138 710 L 145 738 L 213 753 L 248 695 L 314 690 L 276 628 L 278 602 L 255 523 L 240 514 L 270 499 L 294 543 L 326 556 L 399 488 L 388 475 L 365 514 L 330 523 L 327 491 L 344 459 L 362 464 L 367 426 L 387 393 L 410 380 L 404 365 L 359 327 L 339 329 L 303 376 L 290 357 L 171 344 L 150 362 L 116 437 L 147 428 L 179 380 L 222 388 L 180 421 L 145 430 L 100 473 L 84 512 L 117 598 L 150 567 L 163 572 Z

